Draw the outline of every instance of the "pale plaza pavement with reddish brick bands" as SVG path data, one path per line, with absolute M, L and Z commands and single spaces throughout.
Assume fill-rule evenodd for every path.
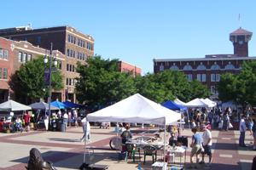
M 95 147 L 95 153 L 91 156 L 91 161 L 96 164 L 109 165 L 108 169 L 137 169 L 138 158 L 135 163 L 129 159 L 119 161 L 117 151 L 110 150 L 109 139 L 116 134 L 112 129 L 99 129 L 92 127 L 90 146 Z M 182 134 L 191 136 L 189 129 L 185 129 Z M 71 127 L 67 132 L 45 132 L 31 131 L 29 133 L 0 133 L 0 170 L 23 170 L 26 169 L 29 150 L 33 147 L 41 151 L 44 160 L 52 161 L 57 169 L 78 169 L 83 163 L 84 144 L 79 141 L 82 133 L 81 127 Z M 238 147 L 238 131 L 212 131 L 213 161 L 211 167 L 196 165 L 197 169 L 212 170 L 250 170 L 253 156 L 256 151 L 252 147 Z M 247 133 L 246 143 L 253 142 L 253 137 Z M 190 138 L 189 138 L 190 144 Z M 187 151 L 186 162 L 189 163 L 190 148 Z M 88 158 L 88 156 L 87 156 Z M 160 158 L 160 156 L 158 156 Z M 207 157 L 206 157 L 207 158 Z M 179 158 L 176 158 L 179 162 Z M 143 158 L 142 158 L 143 161 Z M 206 159 L 207 161 L 207 159 Z M 147 157 L 146 165 L 143 169 L 151 169 L 151 157 Z M 191 169 L 191 168 L 187 168 Z

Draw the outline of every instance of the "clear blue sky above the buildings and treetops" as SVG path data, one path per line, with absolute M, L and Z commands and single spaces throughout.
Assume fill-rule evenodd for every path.
M 229 34 L 256 33 L 255 0 L 41 0 L 1 3 L 1 27 L 73 26 L 95 38 L 95 54 L 153 72 L 153 59 L 233 54 Z M 238 15 L 241 14 L 241 20 Z M 256 37 L 249 42 L 256 56 Z

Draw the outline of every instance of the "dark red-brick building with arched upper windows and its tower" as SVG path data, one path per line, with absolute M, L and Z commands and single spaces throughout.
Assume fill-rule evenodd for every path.
M 248 42 L 253 33 L 242 28 L 230 33 L 230 41 L 234 46 L 234 54 L 209 54 L 205 58 L 195 59 L 154 59 L 154 73 L 166 69 L 183 71 L 189 81 L 198 80 L 206 84 L 212 97 L 218 97 L 216 82 L 226 72 L 237 74 L 244 61 L 254 60 L 248 57 Z

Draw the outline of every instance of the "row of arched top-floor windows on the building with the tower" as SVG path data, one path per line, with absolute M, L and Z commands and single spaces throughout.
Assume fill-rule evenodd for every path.
M 164 71 L 164 69 L 165 69 L 164 65 L 160 65 L 160 71 Z M 173 70 L 173 71 L 178 71 L 178 70 L 179 70 L 178 66 L 175 65 L 175 63 L 173 63 L 173 65 L 170 67 L 170 69 Z M 228 65 L 225 65 L 224 69 L 225 69 L 225 70 L 234 70 L 234 69 L 235 69 L 235 66 L 232 65 L 232 64 L 229 62 Z M 183 71 L 192 71 L 192 70 L 193 70 L 193 68 L 192 68 L 191 65 L 188 65 L 188 64 L 187 64 L 187 65 L 184 65 L 184 66 L 183 66 Z M 196 70 L 198 70 L 198 71 L 207 70 L 207 67 L 206 67 L 206 65 L 203 65 L 203 64 L 201 63 L 201 65 L 198 65 L 198 66 L 196 67 Z M 217 64 L 214 64 L 214 65 L 211 66 L 211 70 L 220 70 L 220 66 L 217 65 Z

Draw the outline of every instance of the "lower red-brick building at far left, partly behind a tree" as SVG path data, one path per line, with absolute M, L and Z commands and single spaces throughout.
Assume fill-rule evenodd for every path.
M 1 51 L 3 52 L 1 53 Z M 66 71 L 66 65 L 62 65 L 62 63 L 65 63 L 65 55 L 58 50 L 53 50 L 52 54 L 57 59 L 62 77 L 64 77 L 63 72 Z M 45 55 L 44 48 L 35 47 L 26 41 L 16 42 L 0 37 L 0 102 L 7 100 L 11 94 L 8 85 L 10 76 L 20 68 L 20 65 L 40 55 Z M 65 99 L 65 90 L 53 91 L 52 98 Z

